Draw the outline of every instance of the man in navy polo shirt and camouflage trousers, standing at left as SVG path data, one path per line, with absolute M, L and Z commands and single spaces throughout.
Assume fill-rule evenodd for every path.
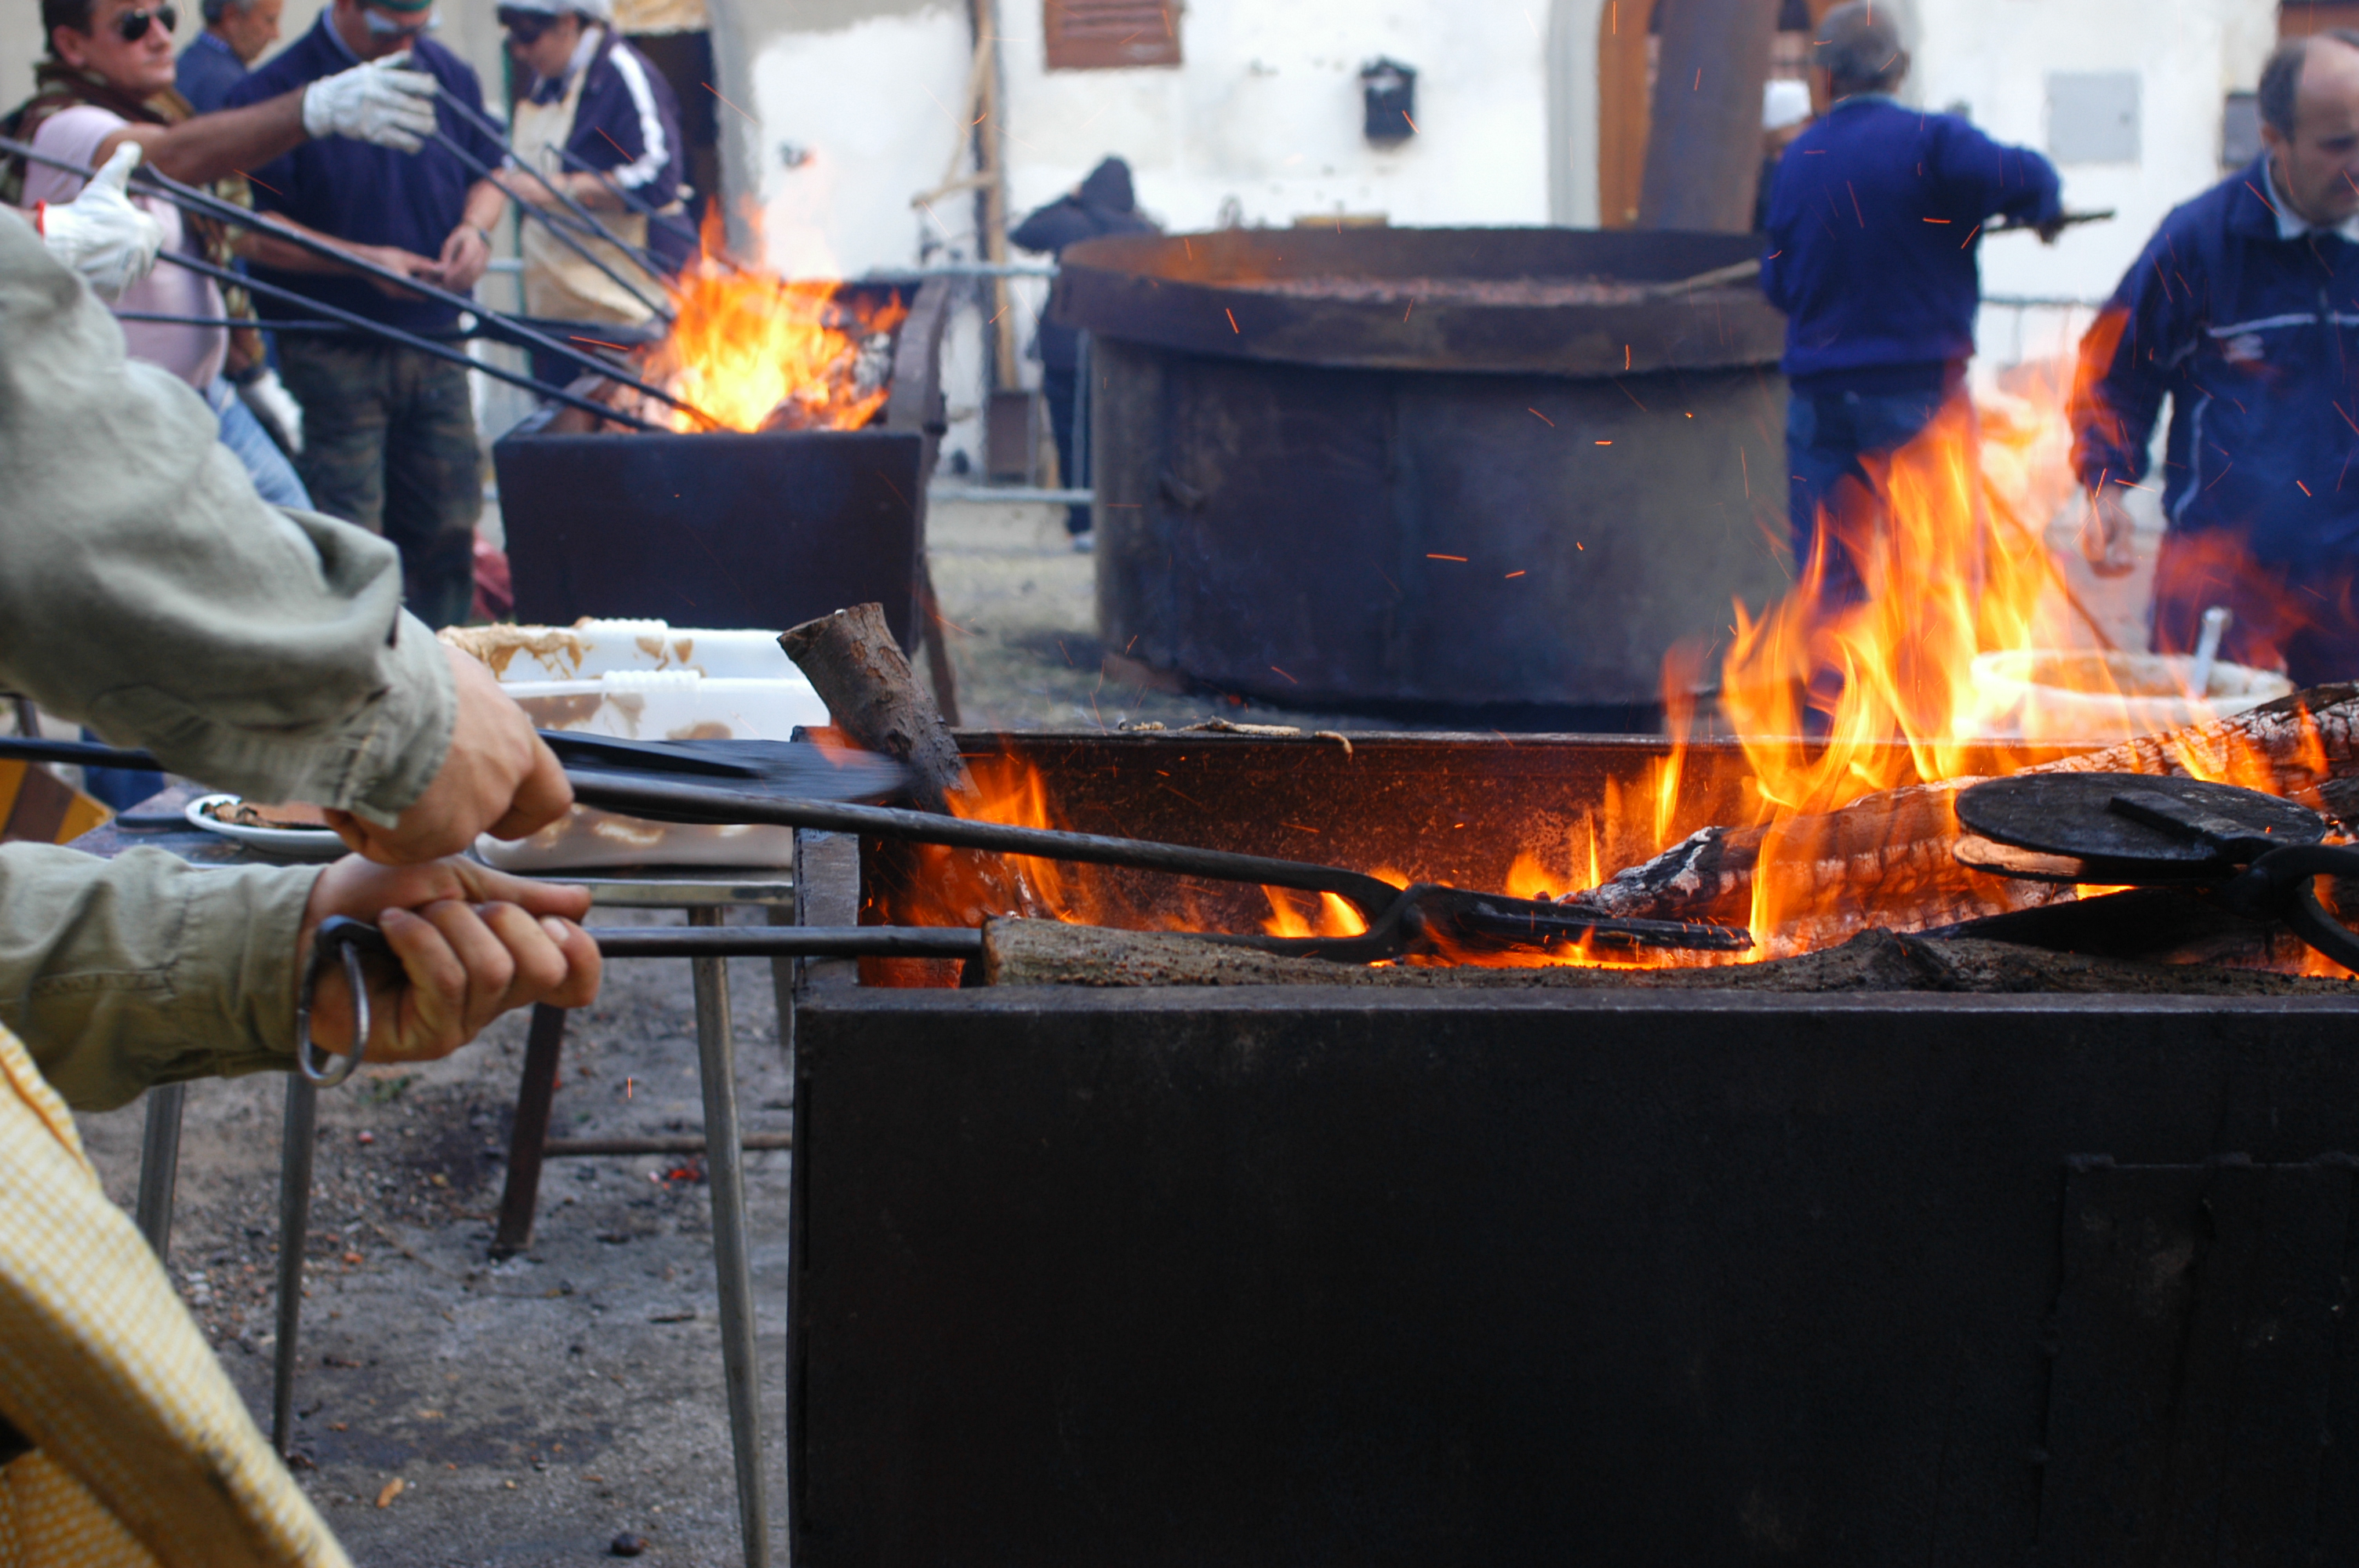
M 481 111 L 474 71 L 429 38 L 432 0 L 333 0 L 318 24 L 229 92 L 231 108 L 335 80 L 354 66 L 408 52 L 439 94 Z M 460 151 L 453 151 L 453 144 Z M 252 167 L 255 207 L 403 276 L 460 292 L 491 262 L 493 224 L 507 212 L 498 184 L 469 160 L 505 158 L 469 116 L 443 113 L 413 153 L 359 141 L 309 141 Z M 396 285 L 377 285 L 288 241 L 255 236 L 255 278 L 323 304 L 436 337 L 458 311 Z M 264 318 L 302 318 L 304 304 L 262 299 Z M 467 620 L 474 601 L 474 523 L 484 509 L 481 453 L 467 373 L 354 332 L 288 332 L 278 375 L 304 410 L 297 467 L 314 505 L 377 533 L 401 552 L 410 611 L 432 627 Z

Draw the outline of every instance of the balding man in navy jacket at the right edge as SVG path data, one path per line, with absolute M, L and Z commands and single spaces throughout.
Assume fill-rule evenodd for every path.
M 2225 604 L 2227 658 L 2309 686 L 2359 677 L 2359 33 L 2279 45 L 2260 116 L 2262 158 L 2163 219 L 2081 342 L 2074 467 L 2083 547 L 2130 571 L 2168 391 L 2154 646 Z

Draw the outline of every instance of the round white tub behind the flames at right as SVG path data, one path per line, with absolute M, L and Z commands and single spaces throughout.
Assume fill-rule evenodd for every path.
M 2184 653 L 2026 648 L 1974 655 L 1974 733 L 1986 740 L 2128 740 L 2293 696 L 2267 670 L 2215 663 L 2203 700 Z

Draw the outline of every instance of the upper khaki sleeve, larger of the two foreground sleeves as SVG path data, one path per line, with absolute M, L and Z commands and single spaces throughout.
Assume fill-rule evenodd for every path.
M 255 495 L 205 401 L 0 212 L 0 686 L 255 799 L 380 825 L 455 698 L 385 540 Z

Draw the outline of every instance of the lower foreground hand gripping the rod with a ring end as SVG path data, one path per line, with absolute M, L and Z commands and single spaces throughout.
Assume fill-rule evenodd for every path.
M 441 1061 L 512 1007 L 597 1000 L 599 950 L 576 924 L 590 889 L 526 882 L 474 861 L 385 868 L 347 856 L 311 884 L 295 938 L 297 974 L 311 962 L 311 934 L 330 915 L 385 931 L 399 974 L 368 969 L 366 1061 Z M 321 971 L 311 1037 L 351 1052 L 351 990 L 342 964 Z

